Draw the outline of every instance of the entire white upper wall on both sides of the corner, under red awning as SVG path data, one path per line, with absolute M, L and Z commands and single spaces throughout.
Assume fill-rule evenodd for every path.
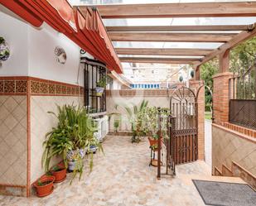
M 31 76 L 68 84 L 84 84 L 83 68 L 79 69 L 80 47 L 65 35 L 46 23 L 41 28 L 35 28 L 2 6 L 0 28 L 0 36 L 4 37 L 11 50 L 11 57 L 0 67 L 1 76 Z M 56 61 L 56 46 L 66 52 L 65 65 Z M 91 58 L 88 53 L 86 55 Z

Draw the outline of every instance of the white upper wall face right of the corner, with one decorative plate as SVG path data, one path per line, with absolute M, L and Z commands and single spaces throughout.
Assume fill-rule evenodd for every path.
M 28 74 L 32 77 L 50 79 L 69 84 L 77 84 L 80 67 L 80 47 L 76 46 L 65 35 L 55 31 L 46 23 L 41 30 L 29 26 L 29 67 Z M 65 65 L 56 61 L 54 50 L 62 47 L 67 55 Z M 79 84 L 83 85 L 83 70 L 80 69 Z

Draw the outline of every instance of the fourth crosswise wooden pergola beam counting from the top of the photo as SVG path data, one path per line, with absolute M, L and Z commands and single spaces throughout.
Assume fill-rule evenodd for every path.
M 115 48 L 118 55 L 208 55 L 213 50 L 205 49 L 153 49 L 153 48 Z

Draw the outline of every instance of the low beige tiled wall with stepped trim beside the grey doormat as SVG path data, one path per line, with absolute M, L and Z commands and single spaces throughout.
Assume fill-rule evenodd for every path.
M 255 160 L 256 140 L 254 137 L 234 132 L 217 124 L 212 125 L 213 175 L 239 175 L 256 188 Z

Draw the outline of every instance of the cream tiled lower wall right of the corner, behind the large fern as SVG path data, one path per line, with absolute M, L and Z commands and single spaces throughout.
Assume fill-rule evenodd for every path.
M 46 133 L 56 127 L 57 119 L 47 112 L 56 113 L 56 105 L 64 104 L 82 105 L 82 97 L 67 96 L 31 96 L 31 183 L 36 181 L 45 172 L 41 168 L 42 143 L 46 139 Z M 52 161 L 52 164 L 60 160 Z

